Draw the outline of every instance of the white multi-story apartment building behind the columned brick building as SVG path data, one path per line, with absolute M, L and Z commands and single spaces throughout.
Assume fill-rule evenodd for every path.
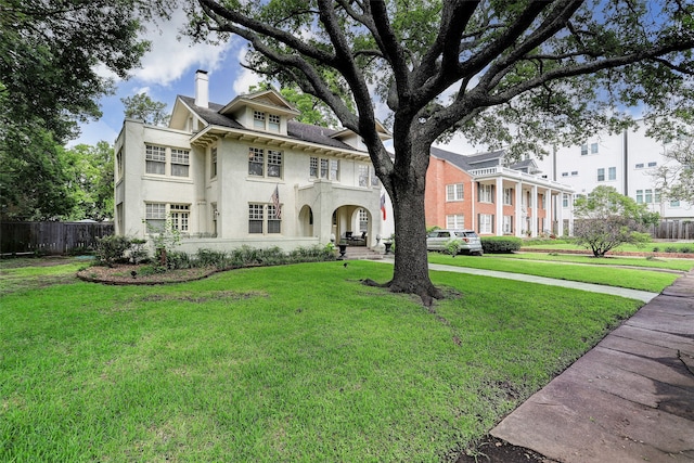
M 647 204 L 666 219 L 692 219 L 691 204 L 663 197 L 655 170 L 673 160 L 664 156 L 671 145 L 646 134 L 643 121 L 621 133 L 597 133 L 578 146 L 558 147 L 536 159 L 549 179 L 569 184 L 577 195 L 587 195 L 597 185 L 614 187 L 637 203 Z M 567 205 L 568 198 L 564 198 Z

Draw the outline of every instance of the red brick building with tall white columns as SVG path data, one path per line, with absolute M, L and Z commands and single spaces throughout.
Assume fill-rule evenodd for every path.
M 527 159 L 513 165 L 504 152 L 464 156 L 432 149 L 426 172 L 427 227 L 475 230 L 480 235 L 563 234 L 573 221 L 563 211 L 574 191 L 538 175 Z

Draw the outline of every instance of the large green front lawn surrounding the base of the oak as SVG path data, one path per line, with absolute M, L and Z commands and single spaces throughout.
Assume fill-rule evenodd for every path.
M 433 272 L 462 297 L 429 311 L 361 285 L 391 272 L 367 261 L 152 287 L 61 268 L 0 298 L 0 461 L 454 460 L 641 306 Z

